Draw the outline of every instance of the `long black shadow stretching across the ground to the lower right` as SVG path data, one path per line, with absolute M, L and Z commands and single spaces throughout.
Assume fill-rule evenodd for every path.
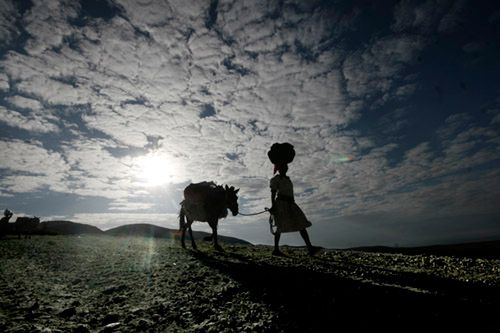
M 256 262 L 235 253 L 193 251 L 192 255 L 241 283 L 256 301 L 268 304 L 284 332 L 326 332 L 339 325 L 347 325 L 349 330 L 407 330 L 409 323 L 413 327 L 499 323 L 498 307 L 480 300 L 377 286 L 335 273 Z

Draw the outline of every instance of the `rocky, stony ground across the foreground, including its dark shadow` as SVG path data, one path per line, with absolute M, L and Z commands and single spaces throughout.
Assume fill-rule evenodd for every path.
M 500 260 L 111 236 L 0 239 L 1 332 L 332 332 L 500 323 Z

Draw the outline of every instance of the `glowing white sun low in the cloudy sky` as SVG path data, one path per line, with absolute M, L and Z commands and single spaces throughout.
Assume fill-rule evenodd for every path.
M 146 186 L 161 186 L 172 181 L 174 166 L 170 159 L 159 153 L 149 153 L 136 160 L 138 178 Z

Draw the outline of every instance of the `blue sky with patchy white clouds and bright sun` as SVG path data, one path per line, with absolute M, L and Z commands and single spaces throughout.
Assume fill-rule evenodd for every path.
M 177 228 L 201 181 L 260 212 L 289 142 L 317 245 L 500 239 L 499 134 L 495 1 L 0 0 L 13 220 Z M 219 233 L 272 244 L 267 219 Z

